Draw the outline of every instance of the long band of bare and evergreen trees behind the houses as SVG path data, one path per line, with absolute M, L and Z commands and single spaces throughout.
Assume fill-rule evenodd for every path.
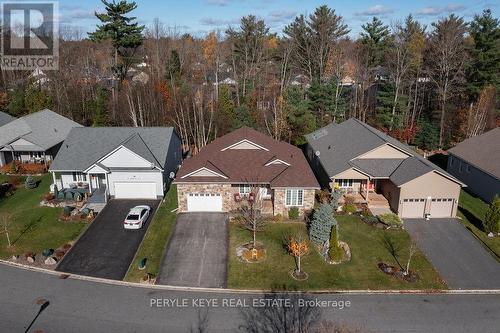
M 87 38 L 64 30 L 58 71 L 2 71 L 0 109 L 49 107 L 87 126 L 174 126 L 194 152 L 250 126 L 296 145 L 356 117 L 403 142 L 446 149 L 498 125 L 499 20 L 451 14 L 423 25 L 373 17 L 352 38 L 328 6 L 271 33 L 256 16 L 205 37 L 134 2 L 103 1 Z M 76 32 L 75 32 L 76 34 Z

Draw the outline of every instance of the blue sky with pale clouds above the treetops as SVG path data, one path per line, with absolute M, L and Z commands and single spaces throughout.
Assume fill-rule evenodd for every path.
M 322 4 L 335 9 L 351 29 L 351 36 L 356 37 L 361 24 L 378 16 L 387 24 L 413 14 L 424 24 L 456 13 L 466 20 L 474 14 L 491 8 L 498 17 L 498 1 L 463 0 L 457 2 L 429 0 L 370 1 L 370 0 L 142 0 L 137 1 L 133 12 L 141 24 L 150 25 L 154 18 L 159 18 L 166 26 L 176 27 L 181 33 L 188 32 L 203 36 L 211 30 L 227 29 L 236 25 L 240 17 L 253 14 L 265 20 L 272 32 L 280 33 L 298 14 L 310 14 Z M 94 11 L 102 11 L 99 0 L 61 0 L 59 10 L 61 23 L 78 27 L 83 32 L 93 31 L 98 23 Z

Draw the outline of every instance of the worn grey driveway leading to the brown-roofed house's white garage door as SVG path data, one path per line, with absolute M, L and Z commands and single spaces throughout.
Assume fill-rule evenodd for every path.
M 228 237 L 224 213 L 177 215 L 157 283 L 225 288 Z

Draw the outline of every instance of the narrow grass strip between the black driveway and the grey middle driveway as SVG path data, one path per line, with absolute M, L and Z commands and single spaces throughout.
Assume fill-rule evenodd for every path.
M 162 202 L 144 236 L 125 281 L 139 282 L 146 272 L 158 276 L 163 251 L 174 230 L 176 213 L 172 213 L 172 210 L 175 208 L 177 208 L 177 187 L 172 185 L 167 192 L 165 202 Z M 142 258 L 147 258 L 147 263 L 146 269 L 140 271 L 138 264 Z

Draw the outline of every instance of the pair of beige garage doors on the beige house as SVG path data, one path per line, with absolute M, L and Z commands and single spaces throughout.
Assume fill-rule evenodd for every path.
M 451 198 L 433 198 L 431 200 L 422 198 L 404 199 L 401 203 L 402 216 L 421 218 L 428 212 L 431 218 L 450 217 L 453 214 L 453 202 L 454 199 Z M 426 206 L 428 207 L 427 209 Z

